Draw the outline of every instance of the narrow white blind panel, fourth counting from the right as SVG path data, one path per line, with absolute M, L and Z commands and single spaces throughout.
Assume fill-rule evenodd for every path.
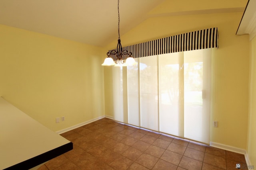
M 139 63 L 139 59 L 135 59 Z M 140 91 L 138 64 L 127 66 L 128 123 L 140 126 Z

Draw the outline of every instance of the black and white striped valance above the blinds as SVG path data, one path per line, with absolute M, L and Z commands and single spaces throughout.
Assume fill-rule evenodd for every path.
M 138 58 L 215 47 L 218 48 L 217 27 L 130 45 L 123 47 L 123 50 L 132 52 L 133 58 Z

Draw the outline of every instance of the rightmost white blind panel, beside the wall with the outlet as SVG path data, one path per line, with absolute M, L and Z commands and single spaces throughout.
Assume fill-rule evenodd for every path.
M 203 143 L 210 142 L 210 61 L 211 49 L 184 52 L 184 137 Z

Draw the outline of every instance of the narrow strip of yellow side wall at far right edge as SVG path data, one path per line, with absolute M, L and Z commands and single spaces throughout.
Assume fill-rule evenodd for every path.
M 251 165 L 256 165 L 256 37 L 250 41 L 250 100 L 247 152 Z

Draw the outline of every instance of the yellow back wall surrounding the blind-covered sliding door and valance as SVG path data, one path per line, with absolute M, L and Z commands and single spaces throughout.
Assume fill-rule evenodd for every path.
M 168 2 L 168 1 L 166 1 Z M 155 12 L 155 11 L 154 11 Z M 161 11 L 159 11 L 161 13 Z M 212 58 L 212 116 L 210 141 L 246 149 L 248 123 L 248 35 L 238 36 L 236 30 L 241 13 L 160 16 L 149 18 L 121 36 L 122 45 L 132 45 L 170 35 L 218 27 L 219 49 Z M 105 50 L 114 49 L 116 41 Z M 105 84 L 110 84 L 111 70 L 105 70 Z M 109 81 L 108 81 L 109 80 Z M 106 105 L 112 104 L 111 89 L 105 88 Z M 108 96 L 110 96 L 108 100 Z M 113 112 L 105 107 L 106 114 Z M 218 121 L 218 128 L 212 127 Z

